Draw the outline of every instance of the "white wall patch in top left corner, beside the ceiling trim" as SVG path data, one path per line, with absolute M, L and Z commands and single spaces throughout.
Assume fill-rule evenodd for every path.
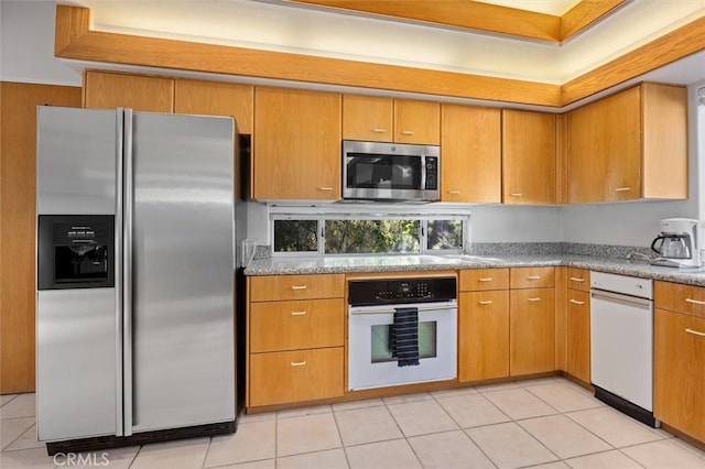
M 80 70 L 54 57 L 54 1 L 0 0 L 0 79 L 80 86 Z

